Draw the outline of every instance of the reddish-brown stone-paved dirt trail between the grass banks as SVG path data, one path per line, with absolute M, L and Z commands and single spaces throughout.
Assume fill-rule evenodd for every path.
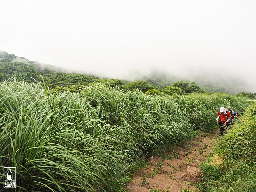
M 181 192 L 186 188 L 193 192 L 199 191 L 193 184 L 201 180 L 200 163 L 212 151 L 211 146 L 217 136 L 217 132 L 201 132 L 192 140 L 169 149 L 162 157 L 150 157 L 147 167 L 136 173 L 134 181 L 127 183 L 125 190 L 150 192 L 155 188 L 159 191 Z

